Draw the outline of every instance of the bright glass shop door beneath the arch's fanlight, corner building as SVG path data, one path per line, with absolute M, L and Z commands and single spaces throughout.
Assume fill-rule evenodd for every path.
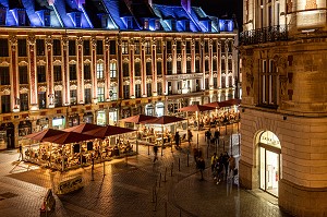
M 259 147 L 261 154 L 261 189 L 278 196 L 278 181 L 280 177 L 280 153 Z

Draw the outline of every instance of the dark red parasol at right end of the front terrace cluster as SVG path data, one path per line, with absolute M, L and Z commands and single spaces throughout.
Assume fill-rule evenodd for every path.
M 107 136 L 119 135 L 119 134 L 124 134 L 124 133 L 131 133 L 131 132 L 134 132 L 134 131 L 135 130 L 128 129 L 128 128 L 107 125 L 107 126 L 104 126 L 101 129 L 95 129 L 95 130 L 92 130 L 92 131 L 87 131 L 83 134 L 93 135 L 97 138 L 104 140 Z

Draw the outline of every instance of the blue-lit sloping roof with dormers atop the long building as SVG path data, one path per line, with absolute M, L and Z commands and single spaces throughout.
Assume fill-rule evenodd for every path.
M 189 13 L 182 5 L 150 7 L 146 1 L 136 0 L 0 0 L 0 8 L 7 9 L 7 26 L 19 25 L 16 16 L 20 12 L 26 13 L 24 26 L 35 27 L 202 33 L 232 32 L 234 28 L 232 20 L 208 16 L 198 7 L 192 7 Z

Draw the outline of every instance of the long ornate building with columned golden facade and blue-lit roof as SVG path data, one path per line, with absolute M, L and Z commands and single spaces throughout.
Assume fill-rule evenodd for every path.
M 191 0 L 0 0 L 0 149 L 46 128 L 234 97 L 234 23 Z

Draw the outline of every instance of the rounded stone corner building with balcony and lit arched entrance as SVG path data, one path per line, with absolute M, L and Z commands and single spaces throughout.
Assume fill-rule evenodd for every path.
M 243 23 L 241 182 L 325 216 L 326 0 L 244 0 Z

